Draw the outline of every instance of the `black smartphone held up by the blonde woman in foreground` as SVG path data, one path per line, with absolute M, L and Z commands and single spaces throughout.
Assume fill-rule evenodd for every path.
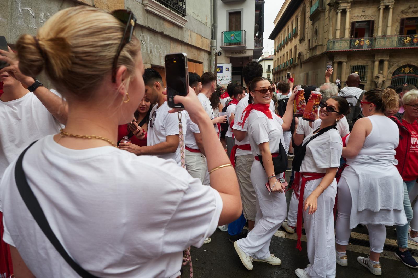
M 183 104 L 174 103 L 174 96 L 186 96 L 189 89 L 189 69 L 186 53 L 166 55 L 166 80 L 168 107 L 184 109 Z

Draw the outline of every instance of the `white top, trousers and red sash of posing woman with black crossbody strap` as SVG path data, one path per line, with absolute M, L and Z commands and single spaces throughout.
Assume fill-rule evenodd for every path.
M 320 123 L 315 121 L 313 130 L 319 129 Z M 306 136 L 303 144 L 314 136 L 313 131 Z M 303 158 L 300 172 L 296 173 L 295 185 L 300 189 L 298 205 L 298 238 L 301 236 L 301 213 L 306 232 L 306 245 L 310 267 L 306 273 L 310 277 L 335 277 L 336 257 L 334 240 L 334 217 L 333 209 L 337 193 L 337 182 L 334 181 L 327 187 L 317 199 L 318 209 L 309 215 L 308 211 L 302 212 L 303 200 L 311 195 L 318 187 L 325 175 L 327 168 L 339 167 L 342 154 L 342 139 L 336 129 L 330 129 L 324 134 L 317 136 L 306 145 L 306 154 Z M 295 191 L 298 192 L 297 189 Z M 303 198 L 301 198 L 303 197 Z M 299 226 L 300 225 L 300 226 Z M 301 249 L 300 240 L 298 248 Z

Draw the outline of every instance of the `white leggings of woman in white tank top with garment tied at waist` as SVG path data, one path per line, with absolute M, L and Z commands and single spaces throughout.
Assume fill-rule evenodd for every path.
M 338 184 L 338 216 L 336 221 L 336 240 L 339 245 L 348 245 L 351 236 L 350 214 L 351 214 L 351 193 L 346 182 Z M 372 220 L 372 219 L 371 219 Z M 369 230 L 370 250 L 375 253 L 383 252 L 383 245 L 386 240 L 385 225 L 367 224 Z

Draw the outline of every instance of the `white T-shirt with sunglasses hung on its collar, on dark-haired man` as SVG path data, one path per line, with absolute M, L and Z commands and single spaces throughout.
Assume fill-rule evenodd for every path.
M 166 142 L 166 136 L 178 134 L 178 115 L 177 113 L 168 113 L 171 108 L 168 107 L 165 101 L 160 107 L 157 104 L 151 110 L 151 116 L 154 111 L 157 112 L 153 120 L 153 126 L 148 124 L 147 146 L 153 146 L 161 142 Z M 183 134 L 186 134 L 186 118 L 187 116 L 182 111 L 181 123 L 183 124 Z M 176 152 L 169 154 L 159 154 L 157 157 L 163 159 L 174 159 L 180 165 L 180 145 Z

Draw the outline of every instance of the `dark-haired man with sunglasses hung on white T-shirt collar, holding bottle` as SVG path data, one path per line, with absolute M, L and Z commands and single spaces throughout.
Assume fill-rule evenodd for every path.
M 133 152 L 136 155 L 155 155 L 163 159 L 174 159 L 180 165 L 180 146 L 177 113 L 168 113 L 171 108 L 164 101 L 163 78 L 153 68 L 146 68 L 143 75 L 145 96 L 155 104 L 150 112 L 148 124 L 147 146 L 120 143 L 119 148 Z M 186 134 L 186 114 L 181 112 L 183 134 Z

